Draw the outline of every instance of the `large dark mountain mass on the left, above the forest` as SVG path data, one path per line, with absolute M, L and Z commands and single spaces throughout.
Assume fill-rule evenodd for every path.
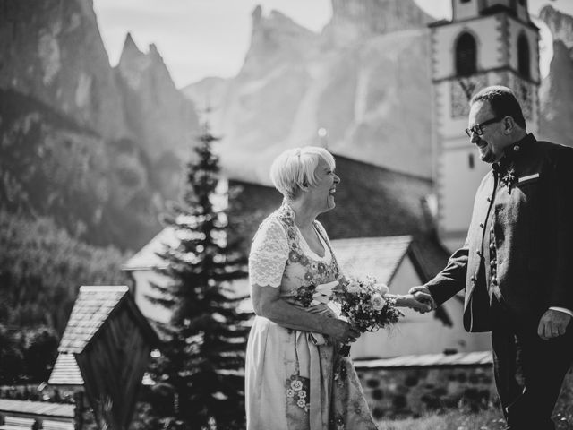
M 136 249 L 198 130 L 154 46 L 110 66 L 92 0 L 0 0 L 0 209 Z

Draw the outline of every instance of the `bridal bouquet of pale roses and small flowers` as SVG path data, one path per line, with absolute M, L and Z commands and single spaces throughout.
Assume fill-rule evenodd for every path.
M 359 280 L 341 279 L 332 290 L 330 300 L 340 306 L 340 311 L 358 331 L 377 331 L 398 323 L 404 316 L 396 307 L 394 297 L 385 297 L 389 288 L 376 283 L 372 277 Z M 349 351 L 349 348 L 348 348 Z M 346 354 L 348 351 L 345 351 Z

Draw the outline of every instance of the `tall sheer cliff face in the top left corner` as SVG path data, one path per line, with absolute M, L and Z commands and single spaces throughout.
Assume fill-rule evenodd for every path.
M 105 138 L 127 133 L 91 0 L 0 0 L 0 88 L 31 96 Z

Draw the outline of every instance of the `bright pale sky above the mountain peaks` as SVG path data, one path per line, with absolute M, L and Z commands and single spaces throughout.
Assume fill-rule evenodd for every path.
M 93 0 L 110 64 L 119 60 L 127 32 L 147 52 L 151 43 L 182 88 L 207 76 L 235 76 L 251 40 L 251 13 L 275 9 L 319 32 L 332 14 L 330 0 Z M 436 19 L 451 18 L 451 0 L 415 0 Z M 573 0 L 529 0 L 536 15 L 552 4 L 573 15 Z M 542 29 L 543 30 L 543 29 Z M 542 51 L 543 53 L 543 51 Z M 550 50 L 545 56 L 551 58 Z M 542 57 L 543 63 L 543 57 Z M 545 60 L 548 64 L 548 60 Z M 544 74 L 542 65 L 542 74 Z

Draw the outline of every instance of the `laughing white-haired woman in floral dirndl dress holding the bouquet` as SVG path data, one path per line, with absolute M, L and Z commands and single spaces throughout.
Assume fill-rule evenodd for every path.
M 339 354 L 360 333 L 330 310 L 324 288 L 308 297 L 309 286 L 340 276 L 316 220 L 335 207 L 334 169 L 329 151 L 317 147 L 286 150 L 270 169 L 285 199 L 261 223 L 249 257 L 257 316 L 245 369 L 248 430 L 377 428 L 351 360 Z M 398 305 L 421 306 L 412 296 Z

